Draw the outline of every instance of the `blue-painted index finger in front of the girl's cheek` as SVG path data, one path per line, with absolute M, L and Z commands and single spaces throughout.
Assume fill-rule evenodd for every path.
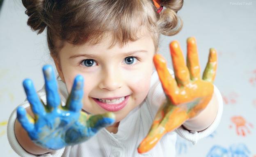
M 82 75 L 77 75 L 74 79 L 74 83 L 71 89 L 71 93 L 67 100 L 65 108 L 78 112 L 82 108 L 82 97 L 83 97 L 83 84 L 84 79 Z

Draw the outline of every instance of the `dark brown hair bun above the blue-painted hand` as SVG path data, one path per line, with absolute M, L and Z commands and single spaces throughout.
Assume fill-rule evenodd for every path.
M 34 31 L 38 31 L 37 34 L 42 33 L 47 26 L 44 22 L 45 0 L 22 0 L 22 3 L 27 9 L 25 13 L 29 17 L 27 25 Z

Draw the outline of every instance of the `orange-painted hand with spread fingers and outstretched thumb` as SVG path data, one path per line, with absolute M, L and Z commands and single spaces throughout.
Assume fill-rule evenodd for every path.
M 213 81 L 217 69 L 216 50 L 210 49 L 201 79 L 195 38 L 187 39 L 187 66 L 178 42 L 173 41 L 169 46 L 175 79 L 167 69 L 165 58 L 156 54 L 153 61 L 167 101 L 158 109 L 148 135 L 138 147 L 139 153 L 149 151 L 165 133 L 175 130 L 198 115 L 206 108 L 213 95 Z

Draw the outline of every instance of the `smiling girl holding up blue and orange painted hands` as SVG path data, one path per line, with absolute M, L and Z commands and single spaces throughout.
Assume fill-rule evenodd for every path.
M 216 129 L 222 115 L 212 84 L 216 51 L 210 49 L 203 80 L 194 38 L 187 40 L 187 66 L 178 42 L 170 44 L 176 80 L 154 55 L 160 33 L 181 30 L 176 13 L 182 0 L 23 5 L 27 24 L 38 33 L 46 29 L 59 77 L 46 65 L 46 84 L 37 93 L 31 80 L 23 82 L 28 101 L 8 123 L 9 143 L 20 156 L 174 157 L 176 133 L 196 143 Z

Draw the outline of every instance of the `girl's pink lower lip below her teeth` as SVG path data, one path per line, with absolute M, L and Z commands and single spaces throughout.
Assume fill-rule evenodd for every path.
M 92 98 L 99 106 L 101 106 L 102 108 L 104 108 L 107 111 L 111 111 L 111 112 L 116 112 L 121 110 L 122 108 L 124 108 L 124 106 L 126 106 L 128 100 L 129 100 L 130 95 L 124 97 L 123 102 L 119 103 L 119 104 L 106 104 L 104 102 L 100 102 L 98 99 L 96 98 Z

